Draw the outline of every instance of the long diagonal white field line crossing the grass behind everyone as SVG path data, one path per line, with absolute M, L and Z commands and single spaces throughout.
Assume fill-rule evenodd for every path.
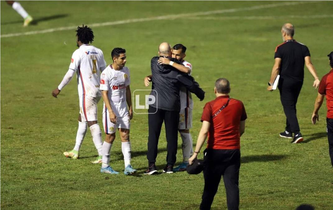
M 259 5 L 259 6 L 244 7 L 244 8 L 213 10 L 213 11 L 206 11 L 206 12 L 194 12 L 194 13 L 185 13 L 185 14 L 177 14 L 177 15 L 164 15 L 164 16 L 157 16 L 157 17 L 137 18 L 137 19 L 120 20 L 120 21 L 105 22 L 105 23 L 93 23 L 93 24 L 88 24 L 88 26 L 89 27 L 101 27 L 101 26 L 110 26 L 110 25 L 120 25 L 120 24 L 126 24 L 126 23 L 145 22 L 145 21 L 152 21 L 152 20 L 166 20 L 166 19 L 175 19 L 175 18 L 200 16 L 200 15 L 212 15 L 212 14 L 222 14 L 222 13 L 267 9 L 267 8 L 274 8 L 274 7 L 280 7 L 280 6 L 291 6 L 291 5 L 317 3 L 317 2 L 321 2 L 321 1 L 284 2 L 284 3 Z M 5 38 L 5 37 L 25 36 L 25 35 L 32 35 L 32 34 L 44 34 L 44 33 L 51 33 L 51 32 L 55 32 L 55 31 L 65 31 L 65 30 L 75 30 L 75 29 L 77 29 L 77 26 L 67 26 L 67 27 L 60 27 L 60 28 L 45 29 L 45 30 L 40 30 L 40 31 L 28 31 L 28 32 L 23 32 L 23 33 L 3 34 L 0 37 Z

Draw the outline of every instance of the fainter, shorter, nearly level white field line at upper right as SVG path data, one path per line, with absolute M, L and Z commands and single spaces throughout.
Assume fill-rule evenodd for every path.
M 313 19 L 313 18 L 333 18 L 333 15 L 289 15 L 289 16 L 228 16 L 228 17 L 186 17 L 189 20 L 270 20 L 270 19 Z

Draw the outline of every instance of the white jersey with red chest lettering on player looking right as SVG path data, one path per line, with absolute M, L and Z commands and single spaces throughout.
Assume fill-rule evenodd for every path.
M 101 74 L 100 90 L 108 90 L 111 108 L 117 117 L 124 117 L 128 114 L 126 102 L 128 85 L 130 85 L 130 70 L 125 66 L 120 70 L 115 70 L 112 65 L 109 65 Z

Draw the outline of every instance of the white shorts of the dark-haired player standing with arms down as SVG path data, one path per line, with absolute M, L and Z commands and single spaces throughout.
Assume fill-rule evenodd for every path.
M 110 115 L 108 109 L 103 107 L 103 128 L 106 134 L 116 132 L 116 128 L 126 128 L 130 130 L 131 122 L 130 116 L 125 115 L 124 117 L 117 117 L 117 124 L 110 121 Z

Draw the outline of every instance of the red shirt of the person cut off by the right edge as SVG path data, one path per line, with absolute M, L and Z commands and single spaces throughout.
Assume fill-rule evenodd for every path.
M 318 93 L 326 95 L 326 117 L 333 119 L 333 69 L 321 79 Z

